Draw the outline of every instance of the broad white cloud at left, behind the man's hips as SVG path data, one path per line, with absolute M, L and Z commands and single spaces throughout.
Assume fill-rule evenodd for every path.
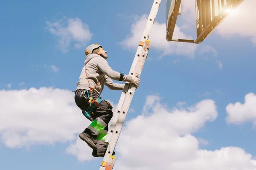
M 70 142 L 87 124 L 71 91 L 53 88 L 0 91 L 0 135 L 7 147 Z

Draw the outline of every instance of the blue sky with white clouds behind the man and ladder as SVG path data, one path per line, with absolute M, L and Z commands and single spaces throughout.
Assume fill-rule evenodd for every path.
M 89 125 L 74 104 L 72 93 L 84 65 L 84 49 L 93 43 L 102 45 L 113 70 L 128 74 L 152 3 L 2 3 L 0 169 L 99 169 L 102 159 L 93 158 L 90 148 L 77 139 Z M 182 5 L 183 15 L 178 18 L 174 37 L 195 39 L 193 4 L 184 0 Z M 186 166 L 198 169 L 196 164 L 201 163 L 209 169 L 220 160 L 215 168 L 255 170 L 256 160 L 251 159 L 256 156 L 256 22 L 248 19 L 256 14 L 255 5 L 253 0 L 244 1 L 204 42 L 195 45 L 166 42 L 166 6 L 162 1 L 149 38 L 152 45 L 140 87 L 125 122 L 129 123 L 116 147 L 118 169 L 132 169 L 127 164 L 132 162 L 136 170 L 150 170 L 145 162 L 159 153 L 178 170 Z M 114 107 L 120 95 L 121 91 L 107 87 L 102 93 Z M 236 102 L 240 104 L 234 105 Z M 165 136 L 156 137 L 155 129 Z M 150 130 L 152 133 L 146 135 Z M 157 140 L 166 142 L 165 150 L 159 150 Z M 151 147 L 141 147 L 140 142 L 151 143 Z M 141 158 L 145 153 L 151 157 Z M 134 154 L 138 159 L 131 158 Z M 221 157 L 225 154 L 230 161 Z M 175 156 L 177 159 L 172 158 Z M 166 164 L 160 168 L 167 169 Z

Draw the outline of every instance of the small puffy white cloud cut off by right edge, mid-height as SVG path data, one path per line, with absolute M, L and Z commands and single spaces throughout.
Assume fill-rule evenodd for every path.
M 226 107 L 226 121 L 229 124 L 242 124 L 244 122 L 253 122 L 256 126 L 256 94 L 249 93 L 244 97 L 244 104 L 236 102 L 229 103 Z

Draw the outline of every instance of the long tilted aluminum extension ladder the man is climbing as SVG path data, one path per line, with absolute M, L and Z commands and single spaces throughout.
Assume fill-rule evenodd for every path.
M 154 0 L 150 14 L 148 16 L 147 23 L 144 28 L 143 35 L 140 39 L 137 52 L 134 57 L 134 61 L 131 65 L 129 75 L 141 74 L 151 45 L 151 42 L 148 41 L 149 34 L 151 33 L 151 30 L 153 28 L 154 20 L 157 16 L 160 3 L 161 0 Z M 116 143 L 122 130 L 123 123 L 125 122 L 125 117 L 130 107 L 135 90 L 136 86 L 134 84 L 128 82 L 125 83 L 125 88 L 122 91 L 116 111 L 112 118 L 110 128 L 108 130 L 108 135 L 105 140 L 105 143 L 107 143 L 108 147 L 99 170 L 113 169 L 114 161 L 116 158 L 112 156 L 112 153 L 116 147 Z

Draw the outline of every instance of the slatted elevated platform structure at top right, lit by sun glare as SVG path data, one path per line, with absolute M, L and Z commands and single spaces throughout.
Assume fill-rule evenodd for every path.
M 181 0 L 166 0 L 166 40 L 200 43 L 218 27 L 244 0 L 195 0 L 196 40 L 173 39 L 177 17 L 181 14 Z

